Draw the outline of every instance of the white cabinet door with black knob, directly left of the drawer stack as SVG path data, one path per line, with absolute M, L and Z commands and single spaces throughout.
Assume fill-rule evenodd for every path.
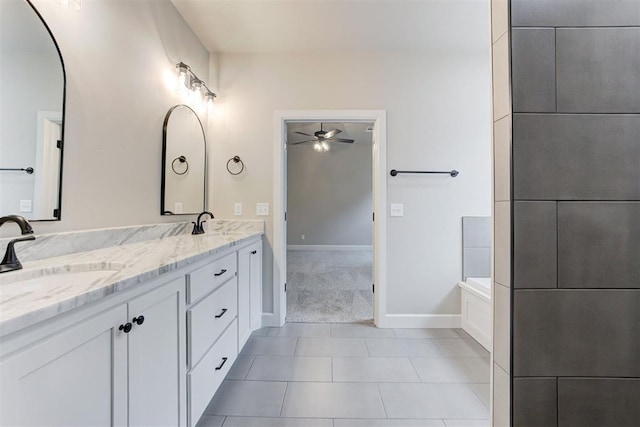
M 186 425 L 184 292 L 181 278 L 128 303 L 130 426 Z

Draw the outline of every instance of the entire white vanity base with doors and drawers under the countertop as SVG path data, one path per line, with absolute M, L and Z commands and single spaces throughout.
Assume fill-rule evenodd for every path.
M 3 336 L 0 426 L 195 426 L 260 327 L 261 250 L 230 245 Z

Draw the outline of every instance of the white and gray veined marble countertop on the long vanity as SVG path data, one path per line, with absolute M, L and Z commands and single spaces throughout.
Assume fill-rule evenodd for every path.
M 23 262 L 22 270 L 0 275 L 0 336 L 131 289 L 262 234 L 255 227 L 181 234 Z M 90 271 L 105 275 L 84 274 Z M 78 272 L 82 274 L 75 274 Z M 16 280 L 20 282 L 12 283 Z

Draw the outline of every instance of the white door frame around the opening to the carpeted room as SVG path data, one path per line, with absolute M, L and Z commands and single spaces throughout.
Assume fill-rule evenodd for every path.
M 386 110 L 282 110 L 274 113 L 273 176 L 273 326 L 284 325 L 287 315 L 285 282 L 285 180 L 288 122 L 373 122 L 373 321 L 385 327 L 387 314 L 387 112 Z

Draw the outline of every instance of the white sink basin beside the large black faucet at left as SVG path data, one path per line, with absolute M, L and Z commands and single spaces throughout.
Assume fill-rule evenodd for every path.
M 118 263 L 69 264 L 40 269 L 25 269 L 0 276 L 0 296 L 9 297 L 28 292 L 70 286 L 90 287 L 115 275 L 125 267 Z

